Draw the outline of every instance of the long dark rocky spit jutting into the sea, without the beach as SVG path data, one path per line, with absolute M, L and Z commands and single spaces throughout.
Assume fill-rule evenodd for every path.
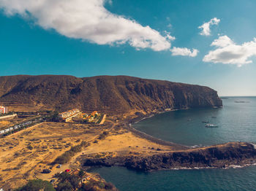
M 256 162 L 256 149 L 249 143 L 227 143 L 206 148 L 188 149 L 142 156 L 84 159 L 83 165 L 121 165 L 138 171 L 173 168 L 226 168 Z

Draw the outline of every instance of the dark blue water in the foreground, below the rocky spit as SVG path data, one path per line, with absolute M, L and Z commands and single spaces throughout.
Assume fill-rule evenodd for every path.
M 256 190 L 256 167 L 236 169 L 154 171 L 148 174 L 127 168 L 94 169 L 121 191 L 236 191 Z

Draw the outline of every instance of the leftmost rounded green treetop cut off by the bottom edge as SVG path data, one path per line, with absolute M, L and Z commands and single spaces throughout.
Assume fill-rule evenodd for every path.
M 42 179 L 29 180 L 29 182 L 23 187 L 19 187 L 16 191 L 55 191 L 54 187 L 50 182 L 43 181 Z

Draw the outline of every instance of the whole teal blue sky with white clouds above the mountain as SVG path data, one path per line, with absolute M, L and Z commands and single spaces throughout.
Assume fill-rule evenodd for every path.
M 0 0 L 0 76 L 128 75 L 256 95 L 255 0 Z

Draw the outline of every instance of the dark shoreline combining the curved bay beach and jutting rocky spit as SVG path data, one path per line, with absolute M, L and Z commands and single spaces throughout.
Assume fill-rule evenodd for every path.
M 172 112 L 172 111 L 166 111 Z M 84 166 L 124 166 L 135 171 L 179 170 L 179 169 L 203 169 L 203 168 L 242 168 L 248 165 L 256 165 L 255 145 L 246 142 L 228 142 L 206 147 L 189 147 L 164 141 L 150 136 L 132 127 L 132 124 L 153 117 L 154 112 L 139 116 L 130 115 L 122 124 L 132 135 L 146 139 L 155 144 L 171 147 L 171 151 L 156 152 L 154 155 L 120 155 L 116 157 L 94 158 L 83 160 Z M 83 157 L 82 157 L 83 158 Z

